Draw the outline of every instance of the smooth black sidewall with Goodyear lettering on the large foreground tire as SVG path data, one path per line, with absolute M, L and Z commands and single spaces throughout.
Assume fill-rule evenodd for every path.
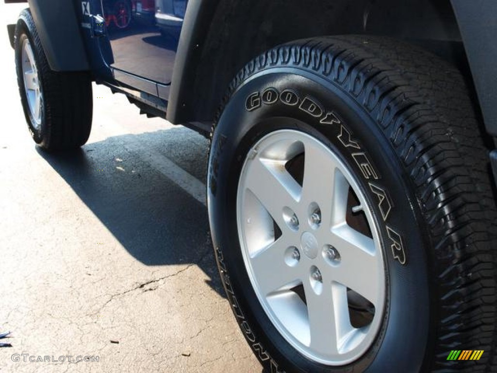
M 266 90 L 274 90 L 272 92 L 279 94 L 278 98 L 272 102 L 271 97 L 264 103 L 262 96 Z M 283 103 L 281 93 L 288 90 L 299 98 L 297 104 Z M 256 93 L 260 102 L 252 107 Z M 313 101 L 323 115 L 316 117 L 304 111 L 301 104 L 306 98 Z M 308 102 L 303 107 L 308 108 Z M 331 123 L 330 120 L 321 123 L 327 113 L 333 114 L 328 118 Z M 236 225 L 240 173 L 250 147 L 267 133 L 280 128 L 316 137 L 349 166 L 368 199 L 380 230 L 387 283 L 384 320 L 369 350 L 345 367 L 311 362 L 279 335 L 257 300 L 243 261 Z M 339 141 L 340 134 L 342 140 L 348 140 L 345 142 L 349 146 Z M 350 141 L 360 148 L 350 145 Z M 363 155 L 357 156 L 359 153 Z M 370 167 L 361 167 L 358 158 Z M 297 68 L 272 68 L 258 73 L 246 80 L 225 106 L 213 138 L 208 173 L 209 219 L 221 277 L 246 339 L 270 372 L 283 369 L 287 372 L 419 370 L 430 325 L 424 249 L 427 243 L 422 238 L 425 228 L 420 223 L 413 187 L 407 182 L 408 176 L 390 141 L 357 102 L 333 83 Z M 381 205 L 377 188 L 385 192 L 390 202 L 386 217 L 385 202 Z M 405 252 L 405 264 L 394 258 L 392 245 L 399 241 Z

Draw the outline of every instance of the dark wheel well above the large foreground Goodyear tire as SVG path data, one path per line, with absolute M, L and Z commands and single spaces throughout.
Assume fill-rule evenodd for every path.
M 450 0 L 220 0 L 196 70 L 189 72 L 195 78 L 175 103 L 182 108 L 175 122 L 211 121 L 231 80 L 263 51 L 295 39 L 340 34 L 410 41 L 471 79 Z

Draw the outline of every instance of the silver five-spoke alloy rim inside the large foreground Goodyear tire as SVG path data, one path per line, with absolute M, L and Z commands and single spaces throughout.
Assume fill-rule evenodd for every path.
M 299 183 L 286 165 L 302 154 Z M 368 235 L 347 223 L 350 189 L 359 201 L 352 210 L 365 216 Z M 385 266 L 372 213 L 343 162 L 303 132 L 266 135 L 242 168 L 237 225 L 251 284 L 287 342 L 325 365 L 362 356 L 382 323 Z M 374 313 L 353 326 L 350 306 L 357 297 Z

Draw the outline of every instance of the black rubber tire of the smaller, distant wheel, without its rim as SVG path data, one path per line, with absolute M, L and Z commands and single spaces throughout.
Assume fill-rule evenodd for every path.
M 29 107 L 24 85 L 22 51 L 29 42 L 35 65 L 41 104 L 39 120 Z M 29 9 L 16 25 L 15 65 L 24 115 L 31 137 L 47 150 L 74 149 L 88 140 L 93 112 L 91 76 L 88 72 L 55 72 L 50 69 Z

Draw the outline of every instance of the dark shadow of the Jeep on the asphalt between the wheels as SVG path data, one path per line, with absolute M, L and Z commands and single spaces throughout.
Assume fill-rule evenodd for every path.
M 147 266 L 197 265 L 225 297 L 205 205 L 155 167 L 159 154 L 203 183 L 207 146 L 179 127 L 109 137 L 76 151 L 37 151 L 134 258 Z

